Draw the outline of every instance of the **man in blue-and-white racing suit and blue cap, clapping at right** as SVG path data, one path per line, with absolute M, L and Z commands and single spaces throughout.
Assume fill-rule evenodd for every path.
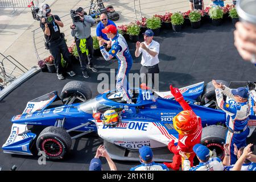
M 251 107 L 251 100 L 248 100 L 249 91 L 243 87 L 231 90 L 225 85 L 218 84 L 215 80 L 212 81 L 212 84 L 215 87 L 217 104 L 227 114 L 226 143 L 229 143 L 229 160 L 232 165 L 237 161 L 237 156 L 234 155 L 234 144 L 238 148 L 246 146 L 246 138 L 250 132 L 247 127 Z M 224 101 L 223 94 L 232 98 L 234 103 Z

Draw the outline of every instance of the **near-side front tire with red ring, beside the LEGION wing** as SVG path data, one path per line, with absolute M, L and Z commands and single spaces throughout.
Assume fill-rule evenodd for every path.
M 64 129 L 56 126 L 49 126 L 44 129 L 36 140 L 38 151 L 44 152 L 49 160 L 60 160 L 68 154 L 72 140 Z

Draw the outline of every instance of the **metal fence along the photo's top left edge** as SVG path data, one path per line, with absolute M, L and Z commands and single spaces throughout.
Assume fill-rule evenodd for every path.
M 35 0 L 34 5 L 38 6 L 45 0 Z M 0 8 L 25 8 L 30 4 L 31 0 L 0 0 Z

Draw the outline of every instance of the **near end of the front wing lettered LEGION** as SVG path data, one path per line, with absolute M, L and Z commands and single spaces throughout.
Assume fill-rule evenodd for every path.
M 13 126 L 11 126 L 11 133 L 8 139 L 2 146 L 3 152 L 9 154 L 32 155 L 30 144 L 35 138 L 36 134 L 27 130 L 27 125 L 14 123 Z

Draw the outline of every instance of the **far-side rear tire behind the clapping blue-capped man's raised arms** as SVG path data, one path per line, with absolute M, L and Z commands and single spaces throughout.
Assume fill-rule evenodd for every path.
M 225 81 L 225 80 L 216 80 L 218 83 L 221 83 L 226 85 L 226 86 L 229 86 L 229 82 L 228 81 Z M 215 94 L 215 88 L 212 84 L 212 82 L 208 82 L 208 84 L 206 84 L 204 86 L 204 90 L 203 90 L 203 93 L 201 94 L 201 98 L 200 98 L 200 102 L 201 104 L 207 104 L 208 101 L 211 101 L 211 100 L 214 100 L 216 102 L 216 94 Z M 216 102 L 216 107 L 217 109 L 220 109 L 218 108 L 217 106 L 217 102 Z

